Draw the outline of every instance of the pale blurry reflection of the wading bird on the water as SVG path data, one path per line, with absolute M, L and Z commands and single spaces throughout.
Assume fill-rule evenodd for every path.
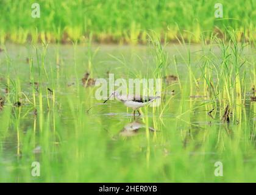
M 134 135 L 137 135 L 139 130 L 142 130 L 142 129 L 146 129 L 146 124 L 144 124 L 143 122 L 135 120 L 133 122 L 130 122 L 130 123 L 126 124 L 126 126 L 124 126 L 124 128 L 121 130 L 119 135 L 122 136 L 122 137 L 132 137 Z M 151 132 L 156 131 L 152 127 L 149 127 L 149 130 Z

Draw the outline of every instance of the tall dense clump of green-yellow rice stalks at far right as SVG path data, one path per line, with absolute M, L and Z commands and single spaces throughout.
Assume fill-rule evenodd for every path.
M 230 32 L 230 37 L 233 37 Z M 212 91 L 214 99 L 218 99 L 219 105 L 227 104 L 236 110 L 236 116 L 241 118 L 241 106 L 245 101 L 246 68 L 247 60 L 244 57 L 246 43 L 238 44 L 233 37 L 228 43 L 216 38 L 216 43 L 221 49 L 221 62 L 218 57 L 206 59 L 204 62 L 204 78 L 208 85 L 208 91 Z M 220 63 L 220 65 L 219 65 Z M 218 67 L 218 68 L 217 68 Z M 209 74 L 210 73 L 210 74 Z M 213 78 L 216 78 L 215 81 Z M 240 116 L 240 117 L 239 117 Z

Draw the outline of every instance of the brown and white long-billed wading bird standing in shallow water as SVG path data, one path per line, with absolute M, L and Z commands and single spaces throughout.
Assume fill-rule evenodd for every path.
M 135 118 L 135 110 L 137 110 L 139 116 L 141 115 L 138 108 L 148 105 L 150 102 L 155 101 L 156 99 L 161 98 L 160 96 L 143 98 L 141 96 L 124 96 L 120 95 L 118 91 L 113 91 L 113 93 L 103 102 L 107 102 L 110 98 L 115 97 L 119 101 L 123 102 L 126 107 L 133 109 L 133 117 Z

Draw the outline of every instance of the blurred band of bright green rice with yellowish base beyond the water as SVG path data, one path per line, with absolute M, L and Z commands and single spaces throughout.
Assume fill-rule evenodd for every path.
M 238 39 L 246 31 L 255 40 L 254 0 L 38 0 L 40 18 L 32 18 L 33 0 L 0 1 L 0 40 L 15 43 L 40 41 L 70 43 L 88 37 L 100 43 L 146 43 L 146 32 L 154 30 L 162 40 L 176 37 L 199 43 L 212 32 L 223 36 L 236 30 Z M 223 5 L 223 18 L 215 18 L 215 4 Z

